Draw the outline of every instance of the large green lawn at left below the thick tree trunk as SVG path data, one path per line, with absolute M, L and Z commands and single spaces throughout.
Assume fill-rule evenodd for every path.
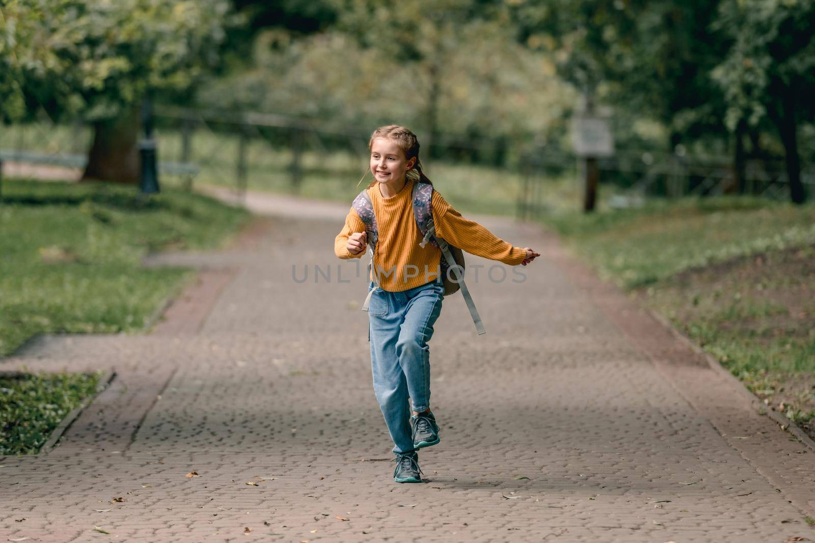
M 2 183 L 0 356 L 32 335 L 138 331 L 192 272 L 147 269 L 163 248 L 217 247 L 247 213 L 169 190 L 144 204 L 102 183 Z

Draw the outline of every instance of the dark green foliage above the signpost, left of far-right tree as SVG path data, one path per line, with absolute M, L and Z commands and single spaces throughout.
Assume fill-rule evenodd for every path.
M 618 115 L 659 120 L 671 134 L 663 145 L 724 133 L 724 103 L 709 77 L 725 51 L 725 42 L 709 28 L 716 2 L 509 4 L 522 43 L 553 55 L 561 77 L 614 105 Z

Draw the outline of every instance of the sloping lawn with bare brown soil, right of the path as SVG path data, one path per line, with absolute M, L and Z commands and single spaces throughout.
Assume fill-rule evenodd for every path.
M 547 221 L 815 436 L 815 205 L 681 199 Z

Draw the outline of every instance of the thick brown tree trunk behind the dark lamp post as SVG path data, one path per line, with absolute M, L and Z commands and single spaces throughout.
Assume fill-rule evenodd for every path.
M 139 108 L 94 123 L 83 181 L 139 182 Z

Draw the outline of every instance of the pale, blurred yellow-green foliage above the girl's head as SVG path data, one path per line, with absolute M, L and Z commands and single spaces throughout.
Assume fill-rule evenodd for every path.
M 425 148 L 438 134 L 510 145 L 564 134 L 571 89 L 551 59 L 514 42 L 505 18 L 462 0 L 334 3 L 339 20 L 324 33 L 259 33 L 253 67 L 208 85 L 201 102 L 285 112 L 337 134 L 396 122 Z

